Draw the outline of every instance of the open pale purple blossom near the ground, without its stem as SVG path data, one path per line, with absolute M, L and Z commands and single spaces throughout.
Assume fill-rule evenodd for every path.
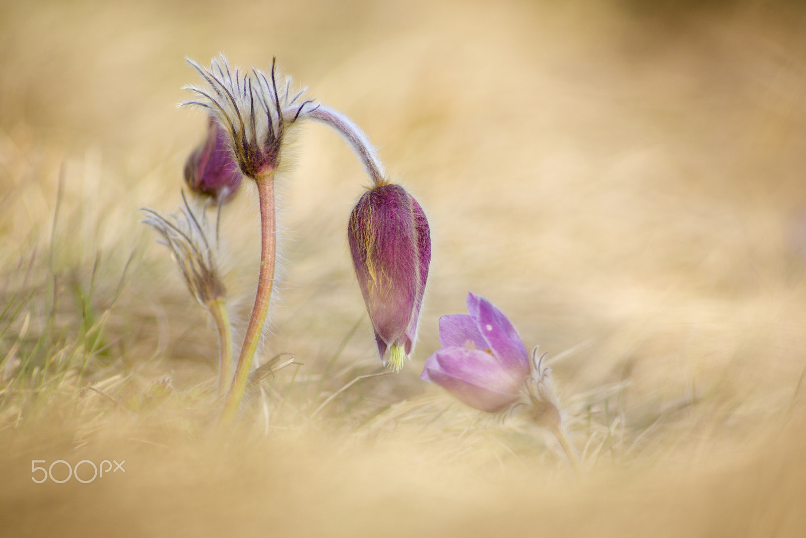
M 530 358 L 509 319 L 487 299 L 467 294 L 469 315 L 439 319 L 441 349 L 420 378 L 436 383 L 480 411 L 502 411 L 521 398 Z

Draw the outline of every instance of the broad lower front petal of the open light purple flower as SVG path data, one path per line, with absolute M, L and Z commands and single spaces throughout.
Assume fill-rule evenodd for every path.
M 492 359 L 493 363 L 486 357 Z M 493 383 L 501 377 L 500 369 L 497 375 L 486 377 L 484 372 L 495 372 L 495 364 L 494 357 L 484 352 L 464 348 L 441 349 L 426 360 L 420 378 L 442 386 L 470 407 L 494 413 L 516 402 L 519 388 L 511 379 L 501 385 Z

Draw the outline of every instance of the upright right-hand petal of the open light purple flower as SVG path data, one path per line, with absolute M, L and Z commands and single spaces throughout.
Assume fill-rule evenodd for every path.
M 513 375 L 526 377 L 529 375 L 529 355 L 521 336 L 492 302 L 483 297 L 479 299 L 476 323 L 481 336 L 505 369 L 512 371 Z

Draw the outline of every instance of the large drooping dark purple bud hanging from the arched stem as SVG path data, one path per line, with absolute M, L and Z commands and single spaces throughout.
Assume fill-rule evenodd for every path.
M 400 371 L 417 340 L 431 261 L 426 214 L 403 187 L 376 185 L 355 205 L 347 239 L 380 357 L 389 348 Z

